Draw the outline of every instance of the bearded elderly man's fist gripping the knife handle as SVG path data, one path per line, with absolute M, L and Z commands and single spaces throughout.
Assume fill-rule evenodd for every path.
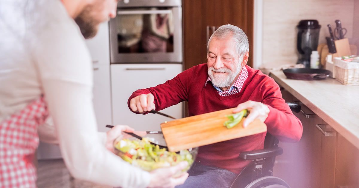
M 131 110 L 143 114 L 155 109 L 154 104 L 155 97 L 151 94 L 141 94 L 130 100 Z

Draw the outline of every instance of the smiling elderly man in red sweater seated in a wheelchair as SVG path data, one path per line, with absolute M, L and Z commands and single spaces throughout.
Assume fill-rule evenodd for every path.
M 135 91 L 129 98 L 131 111 L 146 114 L 188 101 L 189 115 L 237 107 L 250 110 L 243 126 L 254 119 L 267 125 L 279 140 L 299 141 L 302 124 L 290 111 L 279 86 L 261 71 L 247 66 L 246 34 L 234 25 L 220 26 L 208 42 L 207 63 L 178 74 L 164 84 Z M 266 132 L 201 146 L 190 177 L 180 187 L 229 187 L 248 161 L 241 151 L 262 149 Z

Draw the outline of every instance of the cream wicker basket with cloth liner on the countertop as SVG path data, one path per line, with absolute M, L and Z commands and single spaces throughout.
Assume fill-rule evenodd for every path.
M 359 85 L 359 63 L 334 60 L 335 79 L 344 85 Z

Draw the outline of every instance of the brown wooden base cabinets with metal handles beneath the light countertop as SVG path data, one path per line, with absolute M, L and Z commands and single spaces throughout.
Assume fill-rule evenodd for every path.
M 274 175 L 292 188 L 356 188 L 359 186 L 359 150 L 320 117 L 282 90 L 286 101 L 302 106 L 295 114 L 303 124 L 298 143 L 283 143 L 277 156 Z

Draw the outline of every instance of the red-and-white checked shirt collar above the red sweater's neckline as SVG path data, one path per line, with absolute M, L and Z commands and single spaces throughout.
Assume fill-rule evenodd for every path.
M 241 73 L 239 73 L 239 76 L 238 76 L 236 82 L 234 82 L 233 86 L 230 87 L 228 90 L 219 91 L 220 89 L 218 87 L 215 87 L 215 86 L 213 86 L 213 87 L 215 87 L 217 89 L 218 94 L 222 97 L 233 95 L 233 94 L 241 92 L 244 81 L 246 81 L 247 77 L 248 77 L 247 68 L 243 67 Z M 212 81 L 211 77 L 209 77 L 209 76 L 207 78 L 205 86 L 207 85 L 208 81 Z

